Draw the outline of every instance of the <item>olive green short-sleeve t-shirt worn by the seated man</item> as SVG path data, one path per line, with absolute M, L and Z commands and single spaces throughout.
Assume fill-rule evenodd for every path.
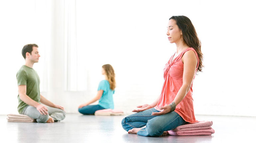
M 35 100 L 36 102 L 40 102 L 40 79 L 37 74 L 37 72 L 26 65 L 23 65 L 20 70 L 16 74 L 18 86 L 20 85 L 26 85 L 27 86 L 27 95 Z M 18 112 L 21 114 L 24 107 L 26 107 L 28 104 L 23 102 L 20 99 L 20 96 L 18 95 Z

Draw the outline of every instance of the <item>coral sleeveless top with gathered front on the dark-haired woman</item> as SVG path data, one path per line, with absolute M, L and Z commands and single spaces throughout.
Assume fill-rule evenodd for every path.
M 155 107 L 156 110 L 162 111 L 160 107 L 164 107 L 165 105 L 169 105 L 174 101 L 178 91 L 182 86 L 182 79 L 183 79 L 183 62 L 181 60 L 184 53 L 187 51 L 192 50 L 194 51 L 196 58 L 197 58 L 197 66 L 199 65 L 199 59 L 196 51 L 193 48 L 188 48 L 184 50 L 181 54 L 179 54 L 176 58 L 173 59 L 173 56 L 169 59 L 167 64 L 164 68 L 164 85 L 162 88 L 162 92 L 158 101 L 157 106 Z M 172 60 L 172 61 L 171 61 Z M 196 70 L 195 70 L 196 73 Z M 193 80 L 195 78 L 195 74 Z M 182 101 L 176 105 L 175 112 L 178 113 L 186 122 L 189 123 L 196 123 L 198 122 L 195 120 L 194 116 L 194 109 L 193 109 L 193 98 L 192 98 L 192 84 L 190 90 L 188 91 L 187 95 L 182 99 Z

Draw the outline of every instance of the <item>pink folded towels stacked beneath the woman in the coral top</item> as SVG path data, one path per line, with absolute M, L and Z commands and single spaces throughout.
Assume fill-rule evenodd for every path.
M 212 121 L 200 121 L 197 123 L 189 123 L 180 125 L 173 130 L 169 130 L 170 135 L 187 136 L 187 135 L 211 135 L 214 133 L 211 128 Z

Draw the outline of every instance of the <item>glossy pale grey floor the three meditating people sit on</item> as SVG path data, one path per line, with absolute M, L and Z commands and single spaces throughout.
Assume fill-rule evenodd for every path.
M 256 142 L 255 117 L 196 116 L 199 121 L 213 121 L 211 136 L 143 137 L 128 134 L 121 126 L 125 116 L 67 114 L 57 123 L 7 122 L 0 116 L 0 142 L 17 143 L 231 143 Z

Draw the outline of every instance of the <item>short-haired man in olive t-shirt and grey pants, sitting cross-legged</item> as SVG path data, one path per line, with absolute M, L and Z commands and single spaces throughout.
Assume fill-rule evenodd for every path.
M 19 90 L 18 112 L 36 119 L 38 123 L 63 120 L 66 115 L 64 108 L 53 104 L 40 94 L 40 79 L 33 69 L 34 63 L 38 62 L 40 57 L 38 46 L 36 44 L 25 45 L 22 55 L 25 58 L 25 65 L 16 74 Z

